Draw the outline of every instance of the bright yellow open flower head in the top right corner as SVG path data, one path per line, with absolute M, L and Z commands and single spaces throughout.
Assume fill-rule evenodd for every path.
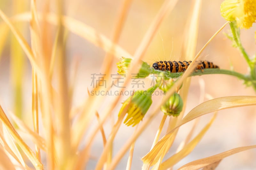
M 225 0 L 220 12 L 227 21 L 236 20 L 238 27 L 248 29 L 256 20 L 256 0 Z

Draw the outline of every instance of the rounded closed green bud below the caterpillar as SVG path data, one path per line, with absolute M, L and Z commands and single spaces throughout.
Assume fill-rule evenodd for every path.
M 165 115 L 178 116 L 182 111 L 182 107 L 183 101 L 180 95 L 175 92 L 172 94 L 169 100 L 167 100 L 166 103 L 161 106 L 161 110 L 162 112 L 164 112 Z

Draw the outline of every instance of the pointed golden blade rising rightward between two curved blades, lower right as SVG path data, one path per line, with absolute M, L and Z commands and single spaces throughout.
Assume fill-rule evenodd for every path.
M 216 118 L 216 115 L 217 115 L 217 113 L 214 114 L 214 116 L 212 117 L 210 122 L 204 127 L 204 129 L 202 129 L 201 132 L 191 142 L 189 142 L 187 145 L 185 145 L 185 147 L 182 150 L 180 150 L 180 152 L 174 154 L 172 157 L 170 157 L 169 159 L 164 161 L 160 165 L 160 169 L 167 169 L 169 167 L 172 167 L 177 162 L 179 162 L 181 159 L 183 159 L 185 156 L 187 156 L 190 152 L 192 152 L 194 150 L 194 148 L 196 147 L 196 145 L 203 138 L 203 136 L 207 132 L 207 130 L 211 127 L 213 121 Z

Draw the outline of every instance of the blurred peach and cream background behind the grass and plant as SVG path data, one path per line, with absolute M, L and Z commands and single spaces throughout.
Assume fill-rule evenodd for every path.
M 221 2 L 222 0 L 203 1 L 199 21 L 199 34 L 196 53 L 226 22 L 220 15 Z M 39 1 L 37 3 L 38 9 L 42 10 L 44 2 Z M 113 26 L 116 23 L 123 1 L 73 0 L 63 1 L 63 3 L 65 4 L 65 15 L 91 26 L 99 33 L 111 38 L 114 29 Z M 128 18 L 118 43 L 131 55 L 133 55 L 138 48 L 150 23 L 156 16 L 163 3 L 163 0 L 134 0 L 132 2 Z M 188 15 L 191 8 L 191 3 L 192 1 L 188 0 L 178 1 L 177 5 L 174 7 L 174 10 L 172 10 L 170 15 L 164 19 L 153 42 L 150 44 L 150 47 L 145 55 L 145 62 L 152 64 L 155 61 L 160 60 L 178 61 L 179 57 L 183 55 L 181 53 L 181 48 L 185 35 L 184 33 L 187 31 L 184 28 L 187 19 L 189 18 Z M 0 8 L 6 13 L 7 16 L 11 17 L 18 13 L 29 11 L 30 1 L 21 2 L 15 0 L 1 0 Z M 52 12 L 56 12 L 54 3 L 51 4 L 50 9 Z M 3 22 L 2 19 L 0 19 L 0 21 L 1 23 Z M 16 26 L 30 43 L 29 22 L 19 22 L 16 24 Z M 54 26 L 52 26 L 52 29 L 55 29 Z M 250 56 L 255 55 L 256 51 L 254 39 L 255 30 L 255 24 L 248 30 L 241 30 L 243 46 Z M 248 67 L 244 58 L 240 55 L 236 48 L 232 47 L 232 42 L 224 35 L 224 33 L 229 33 L 228 25 L 213 39 L 209 46 L 204 50 L 199 60 L 209 60 L 220 66 L 221 69 L 233 69 L 239 73 L 247 74 Z M 22 117 L 25 122 L 31 122 L 31 66 L 27 57 L 24 56 L 24 53 L 21 53 L 23 55 L 19 57 L 15 53 L 15 51 L 21 49 L 19 48 L 18 44 L 13 46 L 12 41 L 14 40 L 12 33 L 8 31 L 3 36 L 7 36 L 7 39 L 6 41 L 0 42 L 4 43 L 3 49 L 1 49 L 0 57 L 0 104 L 4 110 L 11 110 L 16 114 L 20 114 L 20 117 Z M 53 37 L 54 36 L 49 37 L 49 40 L 52 41 Z M 84 99 L 88 97 L 87 87 L 92 89 L 92 74 L 100 73 L 100 67 L 103 64 L 105 54 L 106 53 L 103 51 L 103 49 L 94 46 L 84 38 L 81 38 L 73 33 L 68 34 L 68 74 L 70 74 L 72 71 L 71 63 L 74 60 L 79 61 L 74 90 L 74 106 L 82 104 Z M 122 56 L 120 56 L 120 58 L 121 57 Z M 111 72 L 112 74 L 116 74 L 117 72 L 115 63 L 118 61 L 119 59 L 115 58 Z M 17 65 L 20 65 L 20 67 L 17 67 Z M 13 69 L 13 67 L 16 69 Z M 19 78 L 17 78 L 17 74 L 13 73 L 13 70 L 20 73 L 18 76 L 20 80 L 17 80 Z M 22 82 L 18 87 L 17 81 Z M 202 94 L 202 89 L 200 89 L 199 82 L 203 82 L 205 86 L 203 91 L 205 91 L 205 94 L 209 94 L 213 98 L 236 95 L 255 95 L 255 91 L 252 89 L 252 87 L 246 87 L 243 84 L 243 81 L 235 77 L 228 75 L 204 75 L 192 77 L 185 114 L 200 104 L 199 98 L 201 95 L 204 95 L 204 93 Z M 145 80 L 145 88 L 149 86 L 150 81 Z M 131 87 L 132 85 L 127 87 L 127 90 L 132 90 Z M 17 95 L 17 93 L 19 95 Z M 111 100 L 111 97 L 113 96 L 108 96 L 107 101 Z M 104 125 L 104 128 L 106 128 L 106 135 L 110 133 L 112 123 L 117 120 L 117 114 L 121 107 L 121 102 L 126 98 L 128 98 L 128 96 L 124 95 L 122 97 L 120 104 L 117 105 L 116 109 L 114 110 L 113 119 L 109 120 Z M 162 96 L 153 96 L 153 105 L 154 100 L 161 100 L 161 98 Z M 208 99 L 204 98 L 204 101 L 206 100 Z M 19 103 L 19 101 L 21 102 Z M 17 109 L 16 106 L 19 106 L 19 109 Z M 99 114 L 100 111 L 107 106 L 107 102 L 103 103 L 102 107 L 99 109 Z M 136 141 L 132 160 L 132 169 L 140 169 L 142 166 L 143 163 L 140 158 L 150 150 L 162 116 L 163 114 L 159 113 L 155 120 L 151 122 L 150 126 Z M 200 118 L 200 123 L 196 128 L 195 134 L 197 134 L 205 126 L 205 124 L 209 122 L 211 116 L 212 114 L 208 114 Z M 167 122 L 168 121 L 166 121 L 166 124 Z M 97 121 L 95 120 L 93 123 L 97 123 Z M 192 124 L 193 121 L 180 128 L 174 144 L 167 156 L 171 156 L 176 152 L 178 145 L 185 139 L 189 130 L 191 129 Z M 174 169 L 177 169 L 190 161 L 212 156 L 232 148 L 256 144 L 255 124 L 255 107 L 239 107 L 219 111 L 215 122 L 203 137 L 202 141 L 196 146 L 192 153 L 175 165 Z M 163 133 L 165 133 L 166 127 L 167 126 L 164 127 L 165 129 L 163 130 Z M 125 125 L 121 126 L 114 141 L 114 155 L 123 146 L 125 141 L 132 135 L 133 132 L 134 128 L 126 127 Z M 27 142 L 29 143 L 29 141 Z M 92 147 L 92 155 L 87 169 L 93 169 L 95 167 L 102 149 L 102 137 L 100 133 L 98 133 L 97 140 L 95 140 Z M 237 153 L 223 159 L 217 169 L 255 169 L 255 156 L 255 150 Z M 124 156 L 123 160 L 116 169 L 124 169 L 127 158 L 128 154 Z

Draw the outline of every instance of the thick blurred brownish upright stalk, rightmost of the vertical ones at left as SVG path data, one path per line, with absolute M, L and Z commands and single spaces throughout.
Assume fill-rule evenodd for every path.
M 73 167 L 75 151 L 71 151 L 71 135 L 69 110 L 70 100 L 68 96 L 68 81 L 67 81 L 67 65 L 64 44 L 64 27 L 62 26 L 63 3 L 60 0 L 56 1 L 59 36 L 56 46 L 56 74 L 57 74 L 57 94 L 55 101 L 55 116 L 56 122 L 54 129 L 56 129 L 56 156 L 58 162 L 55 162 L 58 169 L 69 169 Z

